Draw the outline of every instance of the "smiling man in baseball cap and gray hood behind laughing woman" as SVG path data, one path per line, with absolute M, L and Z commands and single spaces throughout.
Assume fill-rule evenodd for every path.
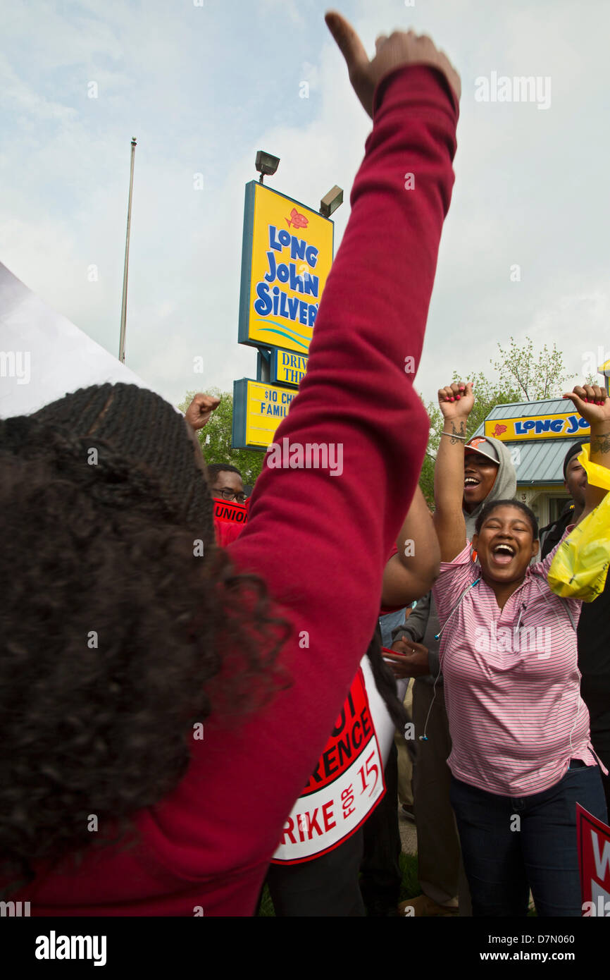
M 460 397 L 458 385 L 452 385 Z M 463 390 L 463 387 L 462 389 Z M 477 516 L 488 501 L 509 500 L 517 491 L 517 474 L 510 451 L 491 436 L 474 436 L 464 446 L 463 511 L 469 540 Z M 417 759 L 413 772 L 413 803 L 417 825 L 419 881 L 423 894 L 402 903 L 415 915 L 470 915 L 468 883 L 460 866 L 460 847 L 449 803 L 451 740 L 446 716 L 443 674 L 439 662 L 441 628 L 432 594 L 424 596 L 408 619 L 395 630 L 393 650 L 400 676 L 416 678 L 413 722 Z M 413 649 L 415 648 L 415 653 Z M 438 679 L 437 679 L 438 678 Z M 436 681 L 436 689 L 435 689 Z M 420 739 L 424 736 L 424 741 Z M 403 910 L 401 908 L 401 910 Z

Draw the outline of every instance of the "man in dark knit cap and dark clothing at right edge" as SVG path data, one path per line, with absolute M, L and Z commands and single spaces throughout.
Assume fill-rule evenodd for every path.
M 540 531 L 540 559 L 553 550 L 568 524 L 576 523 L 583 513 L 587 472 L 578 458 L 585 443 L 574 443 L 565 455 L 564 486 L 572 500 L 554 523 Z M 610 768 L 610 575 L 601 595 L 592 603 L 583 603 L 577 639 L 579 670 L 583 675 L 581 694 L 590 716 L 591 743 Z M 602 773 L 601 780 L 610 810 L 610 778 Z

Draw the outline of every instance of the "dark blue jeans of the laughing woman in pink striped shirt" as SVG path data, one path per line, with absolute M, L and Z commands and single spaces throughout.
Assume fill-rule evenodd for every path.
M 572 760 L 563 779 L 527 797 L 487 793 L 451 776 L 473 915 L 581 916 L 576 804 L 607 820 L 599 768 Z

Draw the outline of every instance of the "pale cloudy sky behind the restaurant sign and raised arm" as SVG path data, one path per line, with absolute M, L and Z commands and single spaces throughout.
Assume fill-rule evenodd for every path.
M 117 354 L 136 136 L 126 364 L 174 403 L 187 389 L 232 390 L 234 378 L 256 376 L 237 319 L 244 185 L 257 176 L 258 149 L 281 158 L 271 186 L 311 207 L 333 184 L 345 188 L 341 241 L 370 121 L 326 9 L 320 0 L 4 6 L 0 261 Z M 430 33 L 462 77 L 419 390 L 432 398 L 454 368 L 491 371 L 510 335 L 555 341 L 578 375 L 598 347 L 609 358 L 610 5 L 342 0 L 338 9 L 370 52 L 382 31 Z M 493 73 L 540 77 L 538 102 L 477 101 L 477 79 Z

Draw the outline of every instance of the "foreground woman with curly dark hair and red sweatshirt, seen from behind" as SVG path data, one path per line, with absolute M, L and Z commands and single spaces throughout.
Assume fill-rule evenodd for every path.
M 0 423 L 2 885 L 32 915 L 252 914 L 373 632 L 427 441 L 405 366 L 459 79 L 428 38 L 379 39 L 369 62 L 327 21 L 373 130 L 276 439 L 343 446 L 342 475 L 263 468 L 224 551 L 185 423 L 150 392 Z

